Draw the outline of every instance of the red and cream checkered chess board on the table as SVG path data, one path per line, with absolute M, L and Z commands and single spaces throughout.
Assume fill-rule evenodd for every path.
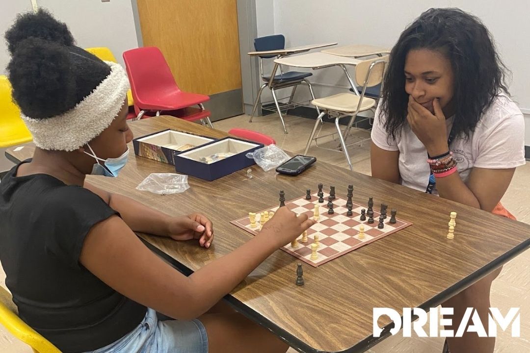
M 328 214 L 328 193 L 324 193 L 324 202 L 319 203 L 319 197 L 317 194 L 311 195 L 311 200 L 306 200 L 305 196 L 295 198 L 285 203 L 285 206 L 289 210 L 294 211 L 297 214 L 305 213 L 309 218 L 313 218 L 314 205 L 319 205 L 320 219 L 310 229 L 307 230 L 307 242 L 301 242 L 302 236 L 298 237 L 298 246 L 293 248 L 291 244 L 282 247 L 281 249 L 288 252 L 289 254 L 301 259 L 311 266 L 320 266 L 333 259 L 338 258 L 350 251 L 360 248 L 361 246 L 367 245 L 371 242 L 386 237 L 392 233 L 395 233 L 405 227 L 408 227 L 412 223 L 400 220 L 396 217 L 396 223 L 390 224 L 390 208 L 388 209 L 387 218 L 384 221 L 384 228 L 378 229 L 379 223 L 379 212 L 376 212 L 376 203 L 374 202 L 374 223 L 368 223 L 368 215 L 366 215 L 366 221 L 360 220 L 361 209 L 367 209 L 367 206 L 360 206 L 356 203 L 353 204 L 351 216 L 347 216 L 348 209 L 346 208 L 346 200 L 335 195 L 333 200 L 333 214 Z M 248 231 L 251 234 L 257 235 L 260 229 L 260 213 L 261 212 L 276 212 L 277 207 L 271 209 L 262 210 L 256 212 L 256 223 L 257 227 L 250 227 L 250 218 L 246 216 L 244 218 L 232 221 L 230 223 L 236 225 Z M 399 213 L 398 213 L 399 215 Z M 359 225 L 364 224 L 365 236 L 364 239 L 359 239 Z M 320 246 L 317 250 L 318 258 L 311 260 L 311 244 L 314 242 L 314 236 L 318 234 Z

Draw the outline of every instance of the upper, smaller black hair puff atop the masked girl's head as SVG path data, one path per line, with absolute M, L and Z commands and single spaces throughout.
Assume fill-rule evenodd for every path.
M 16 17 L 13 26 L 5 32 L 7 49 L 14 53 L 22 41 L 32 37 L 62 46 L 74 45 L 74 37 L 66 24 L 57 21 L 48 11 L 42 9 Z

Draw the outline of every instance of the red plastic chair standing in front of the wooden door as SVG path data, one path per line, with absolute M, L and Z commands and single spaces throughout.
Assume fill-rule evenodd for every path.
M 141 119 L 148 112 L 160 115 L 164 111 L 188 121 L 205 119 L 210 128 L 213 128 L 209 117 L 211 113 L 202 105 L 210 97 L 180 90 L 160 49 L 145 47 L 127 50 L 123 52 L 123 60 L 133 92 L 135 112 L 138 114 L 136 119 Z M 185 115 L 187 111 L 183 108 L 193 105 L 199 106 L 200 113 L 193 110 L 191 115 Z M 171 114 L 172 112 L 178 113 Z

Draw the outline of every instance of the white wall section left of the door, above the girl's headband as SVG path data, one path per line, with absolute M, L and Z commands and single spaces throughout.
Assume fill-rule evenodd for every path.
M 68 25 L 78 47 L 108 47 L 121 64 L 123 51 L 138 47 L 130 0 L 37 0 L 37 5 Z

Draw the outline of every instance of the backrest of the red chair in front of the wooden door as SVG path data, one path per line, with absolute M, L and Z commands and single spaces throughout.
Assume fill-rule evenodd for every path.
M 123 52 L 123 60 L 133 91 L 135 104 L 142 104 L 149 97 L 166 90 L 180 92 L 164 55 L 156 47 L 144 47 Z

